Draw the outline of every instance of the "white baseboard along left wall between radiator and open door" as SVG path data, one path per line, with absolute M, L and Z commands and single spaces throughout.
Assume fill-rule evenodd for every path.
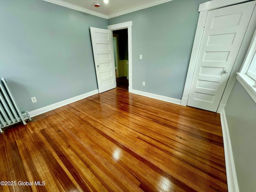
M 86 98 L 86 97 L 95 95 L 95 94 L 97 94 L 97 93 L 99 93 L 99 90 L 98 90 L 98 89 L 97 89 L 97 90 L 94 90 L 94 91 L 91 91 L 91 92 L 88 92 L 88 93 L 85 93 L 85 94 L 82 94 L 82 95 L 78 95 L 78 96 L 72 97 L 72 98 L 70 98 L 70 99 L 66 99 L 66 100 L 64 100 L 64 101 L 60 101 L 60 102 L 58 102 L 58 103 L 54 103 L 54 104 L 51 104 L 51 105 L 48 105 L 48 106 L 45 106 L 45 107 L 42 107 L 42 108 L 39 108 L 39 109 L 30 111 L 30 112 L 28 112 L 28 113 L 30 114 L 31 117 L 34 117 L 34 116 L 43 114 L 43 113 L 45 113 L 45 112 L 54 110 L 54 109 L 56 109 L 56 108 L 62 107 L 62 106 L 64 106 L 64 105 L 67 105 L 67 104 L 76 102 L 76 101 L 78 101 L 78 100 L 84 99 L 84 98 Z

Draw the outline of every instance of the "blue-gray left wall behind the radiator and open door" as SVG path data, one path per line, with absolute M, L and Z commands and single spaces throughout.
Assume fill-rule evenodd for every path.
M 20 109 L 98 89 L 89 27 L 107 25 L 106 19 L 42 0 L 1 0 L 0 77 L 8 80 Z

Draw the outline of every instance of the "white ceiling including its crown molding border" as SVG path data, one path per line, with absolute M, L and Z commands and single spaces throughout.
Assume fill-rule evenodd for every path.
M 172 0 L 109 0 L 105 4 L 103 0 L 44 0 L 74 10 L 86 12 L 102 18 L 113 18 L 144 8 L 156 6 Z M 100 7 L 95 8 L 94 3 Z

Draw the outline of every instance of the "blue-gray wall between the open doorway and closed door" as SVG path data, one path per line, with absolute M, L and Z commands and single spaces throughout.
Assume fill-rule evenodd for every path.
M 181 99 L 188 71 L 199 4 L 174 0 L 108 20 L 132 21 L 132 88 Z M 142 60 L 139 55 L 142 54 Z M 146 86 L 142 86 L 142 81 Z

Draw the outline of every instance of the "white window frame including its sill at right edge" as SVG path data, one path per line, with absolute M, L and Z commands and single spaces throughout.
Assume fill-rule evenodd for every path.
M 247 71 L 250 65 L 252 64 L 255 54 L 256 54 L 256 30 L 254 31 L 254 35 L 252 37 L 250 46 L 247 50 L 240 72 L 236 73 L 237 74 L 236 79 L 240 82 L 240 84 L 244 87 L 244 89 L 248 92 L 248 94 L 252 97 L 252 99 L 256 103 L 256 80 L 254 80 L 247 74 Z

